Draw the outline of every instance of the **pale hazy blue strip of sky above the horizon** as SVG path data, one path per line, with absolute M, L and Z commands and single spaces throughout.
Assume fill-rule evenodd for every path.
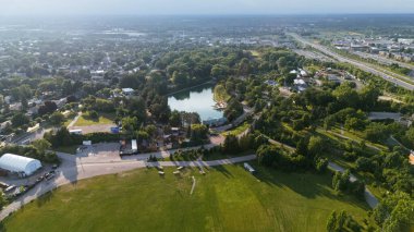
M 0 16 L 344 13 L 414 13 L 414 0 L 0 0 Z

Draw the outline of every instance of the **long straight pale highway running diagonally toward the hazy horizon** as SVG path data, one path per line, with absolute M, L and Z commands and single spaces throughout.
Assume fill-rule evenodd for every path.
M 296 39 L 297 41 L 300 41 L 300 42 L 302 42 L 304 45 L 310 46 L 310 47 L 319 50 L 320 52 L 334 58 L 339 62 L 352 64 L 352 65 L 354 65 L 354 66 L 356 66 L 356 68 L 358 68 L 358 69 L 361 69 L 361 70 L 363 70 L 365 72 L 369 72 L 369 73 L 373 73 L 374 75 L 380 76 L 383 80 L 393 83 L 394 85 L 401 86 L 401 87 L 403 87 L 405 89 L 409 89 L 409 90 L 414 90 L 414 85 L 409 83 L 410 81 L 413 82 L 413 80 L 410 78 L 410 77 L 406 77 L 406 76 L 403 76 L 403 75 L 399 75 L 397 73 L 392 73 L 392 72 L 390 72 L 388 70 L 375 66 L 375 65 L 369 64 L 369 63 L 365 63 L 365 62 L 362 62 L 362 61 L 357 61 L 357 60 L 353 60 L 353 59 L 343 57 L 341 54 L 338 54 L 337 52 L 333 52 L 333 51 L 329 50 L 325 46 L 310 42 L 310 41 L 302 38 L 297 34 L 288 34 L 288 35 L 292 36 L 294 39 Z M 406 80 L 407 82 L 402 81 L 402 80 Z

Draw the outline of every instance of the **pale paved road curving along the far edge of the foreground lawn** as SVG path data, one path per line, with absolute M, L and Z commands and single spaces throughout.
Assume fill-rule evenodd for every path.
M 20 197 L 7 206 L 0 212 L 0 220 L 3 220 L 11 212 L 19 210 L 22 206 L 38 198 L 39 196 L 57 188 L 58 186 L 75 183 L 78 180 L 88 179 L 98 175 L 111 174 L 124 172 L 133 169 L 156 167 L 214 167 L 232 164 L 236 162 L 245 162 L 256 159 L 255 155 L 236 157 L 231 159 L 214 160 L 214 161 L 161 161 L 161 162 L 145 162 L 145 161 L 119 161 L 119 162 L 106 162 L 106 163 L 82 163 L 76 161 L 76 158 L 72 155 L 59 154 L 62 159 L 62 166 L 57 170 L 58 174 L 56 179 L 50 182 L 44 181 L 32 188 L 28 193 Z

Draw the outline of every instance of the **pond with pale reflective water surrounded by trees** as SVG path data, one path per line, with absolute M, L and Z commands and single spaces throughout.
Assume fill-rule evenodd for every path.
M 197 86 L 180 91 L 168 98 L 171 110 L 196 112 L 202 121 L 208 119 L 220 119 L 223 112 L 215 109 L 216 101 L 212 94 L 211 84 Z

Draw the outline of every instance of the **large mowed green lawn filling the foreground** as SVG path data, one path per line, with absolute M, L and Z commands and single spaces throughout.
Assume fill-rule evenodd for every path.
M 25 206 L 4 221 L 7 231 L 325 231 L 329 213 L 351 212 L 360 222 L 366 206 L 337 196 L 328 175 L 242 166 L 142 169 L 80 181 Z M 192 179 L 196 179 L 193 195 Z

